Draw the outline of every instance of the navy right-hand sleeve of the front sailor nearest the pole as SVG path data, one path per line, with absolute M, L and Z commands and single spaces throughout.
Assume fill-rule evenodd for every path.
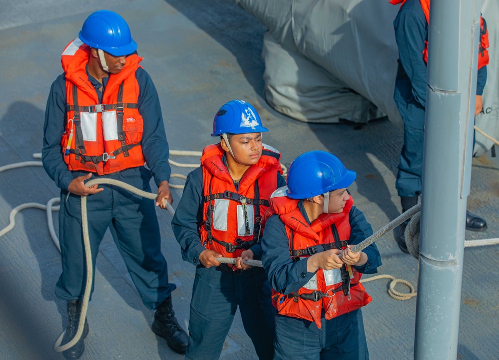
M 373 229 L 371 225 L 367 222 L 366 217 L 355 206 L 349 213 L 350 221 L 350 244 L 357 245 L 368 237 L 373 235 Z M 375 243 L 372 243 L 367 248 L 362 250 L 364 254 L 367 255 L 367 261 L 362 266 L 355 266 L 355 269 L 359 273 L 363 274 L 376 274 L 378 272 L 377 268 L 382 265 L 380 252 Z

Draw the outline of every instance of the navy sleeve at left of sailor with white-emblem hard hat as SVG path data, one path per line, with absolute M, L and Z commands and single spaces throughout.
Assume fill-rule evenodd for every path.
M 199 264 L 199 256 L 206 250 L 201 245 L 198 224 L 203 220 L 203 173 L 197 168 L 187 175 L 182 198 L 178 202 L 171 228 L 180 244 L 182 259 Z

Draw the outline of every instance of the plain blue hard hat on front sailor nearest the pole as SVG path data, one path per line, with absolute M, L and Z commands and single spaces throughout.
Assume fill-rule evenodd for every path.
M 286 195 L 292 199 L 307 199 L 336 189 L 349 187 L 357 174 L 345 169 L 343 163 L 326 151 L 309 151 L 298 156 L 290 165 Z

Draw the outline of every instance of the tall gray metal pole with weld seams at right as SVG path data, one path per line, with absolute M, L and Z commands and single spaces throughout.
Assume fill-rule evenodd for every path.
M 455 360 L 480 0 L 432 0 L 415 360 Z

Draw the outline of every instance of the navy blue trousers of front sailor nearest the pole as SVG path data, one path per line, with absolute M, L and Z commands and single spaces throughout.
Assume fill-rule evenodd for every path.
M 321 324 L 277 315 L 274 360 L 369 360 L 360 309 Z

